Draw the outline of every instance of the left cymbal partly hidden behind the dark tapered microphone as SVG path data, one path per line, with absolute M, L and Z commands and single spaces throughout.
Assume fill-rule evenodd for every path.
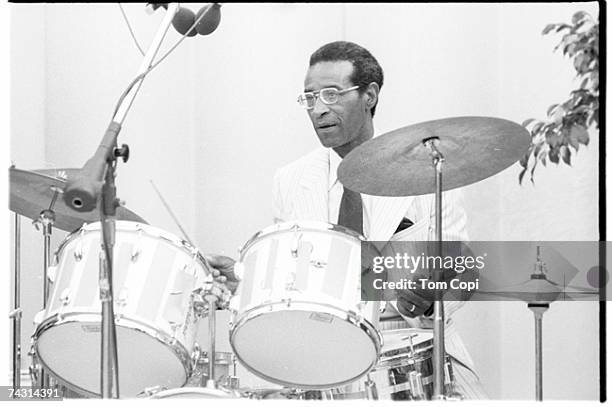
M 99 207 L 91 212 L 77 212 L 66 205 L 62 199 L 62 191 L 66 186 L 66 180 L 75 176 L 77 171 L 79 170 L 76 168 L 34 171 L 9 168 L 10 210 L 36 220 L 43 210 L 49 209 L 57 191 L 55 202 L 51 208 L 55 213 L 54 227 L 72 232 L 80 228 L 83 223 L 99 221 Z M 122 206 L 117 208 L 117 220 L 147 224 L 140 216 Z

